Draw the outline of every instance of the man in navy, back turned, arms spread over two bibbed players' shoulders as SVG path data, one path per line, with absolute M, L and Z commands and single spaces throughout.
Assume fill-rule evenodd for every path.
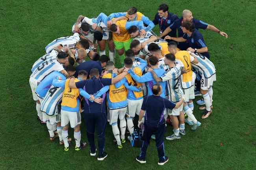
M 104 86 L 109 86 L 115 84 L 123 79 L 128 74 L 128 69 L 119 74 L 113 79 L 100 79 L 99 70 L 96 68 L 91 69 L 90 79 L 74 82 L 74 79 L 70 79 L 69 87 L 70 88 L 83 88 L 89 95 L 95 94 Z M 97 130 L 98 136 L 98 161 L 103 161 L 108 154 L 104 152 L 105 146 L 105 128 L 107 124 L 106 116 L 106 94 L 102 95 L 101 98 L 103 102 L 98 104 L 96 102 L 90 102 L 85 100 L 84 106 L 84 117 L 85 117 L 85 126 L 87 128 L 87 138 L 90 144 L 90 155 L 96 155 L 96 147 L 94 140 L 95 128 Z

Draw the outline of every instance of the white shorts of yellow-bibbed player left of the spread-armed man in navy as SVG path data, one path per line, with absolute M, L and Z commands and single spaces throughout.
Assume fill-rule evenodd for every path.
M 61 126 L 66 126 L 69 123 L 71 128 L 81 124 L 81 113 L 61 110 Z

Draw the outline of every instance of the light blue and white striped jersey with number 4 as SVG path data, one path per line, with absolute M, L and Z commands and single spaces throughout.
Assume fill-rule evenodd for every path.
M 41 103 L 41 111 L 47 115 L 58 114 L 57 104 L 62 99 L 63 91 L 64 88 L 51 86 Z

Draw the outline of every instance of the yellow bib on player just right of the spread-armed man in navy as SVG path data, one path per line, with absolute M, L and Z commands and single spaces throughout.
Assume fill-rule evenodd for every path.
M 102 78 L 112 78 L 112 73 L 107 73 Z M 127 99 L 127 90 L 122 84 L 119 88 L 115 88 L 115 84 L 109 85 L 109 100 L 112 103 L 125 101 Z

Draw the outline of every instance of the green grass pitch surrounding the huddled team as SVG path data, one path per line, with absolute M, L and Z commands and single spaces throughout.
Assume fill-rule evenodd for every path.
M 202 126 L 178 141 L 164 141 L 169 162 L 160 167 L 155 142 L 147 152 L 147 164 L 135 161 L 138 148 L 126 142 L 121 150 L 113 146 L 111 127 L 106 128 L 105 161 L 89 156 L 89 147 L 64 152 L 58 140 L 49 141 L 46 126 L 36 119 L 29 76 L 32 64 L 41 57 L 45 46 L 55 38 L 71 35 L 71 27 L 78 15 L 95 17 L 126 11 L 136 6 L 150 19 L 154 18 L 160 1 L 28 1 L 5 0 L 0 7 L 1 37 L 1 170 L 252 170 L 256 169 L 256 114 L 254 49 L 255 1 L 194 0 L 168 1 L 170 12 L 181 15 L 191 9 L 194 18 L 201 19 L 226 31 L 225 39 L 209 30 L 200 30 L 217 69 L 214 83 L 213 114 L 202 120 L 195 104 L 194 114 Z M 154 28 L 159 32 L 158 26 Z M 198 97 L 196 98 L 198 99 Z M 195 103 L 195 102 L 194 102 Z M 167 133 L 172 133 L 167 126 Z M 82 140 L 87 141 L 82 122 Z M 73 130 L 69 130 L 73 138 Z M 221 145 L 222 143 L 222 145 Z

